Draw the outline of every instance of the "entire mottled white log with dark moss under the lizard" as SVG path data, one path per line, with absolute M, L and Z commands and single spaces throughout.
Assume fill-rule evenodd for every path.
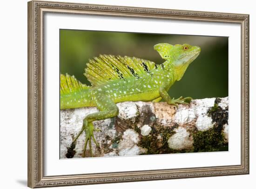
M 166 102 L 121 102 L 115 118 L 94 121 L 95 157 L 228 150 L 228 97 L 192 100 L 179 109 Z M 61 158 L 81 157 L 85 133 L 71 146 L 96 107 L 61 110 Z M 87 146 L 86 156 L 89 155 Z

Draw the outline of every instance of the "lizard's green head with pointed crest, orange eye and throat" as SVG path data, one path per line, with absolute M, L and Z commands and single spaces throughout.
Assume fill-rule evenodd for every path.
M 171 67 L 176 70 L 179 81 L 189 64 L 195 60 L 201 52 L 201 48 L 198 46 L 192 46 L 189 44 L 156 44 L 154 49 L 158 51 L 160 56 L 167 60 Z

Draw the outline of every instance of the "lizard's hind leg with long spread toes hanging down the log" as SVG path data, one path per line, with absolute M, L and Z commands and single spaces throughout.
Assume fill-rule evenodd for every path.
M 92 122 L 95 121 L 95 120 L 104 120 L 104 119 L 115 117 L 118 114 L 118 111 L 119 111 L 115 102 L 112 101 L 108 97 L 108 95 L 94 93 L 94 99 L 93 100 L 96 104 L 96 107 L 100 110 L 100 112 L 88 114 L 84 118 L 83 126 L 81 128 L 81 131 L 77 134 L 77 136 L 74 139 L 74 141 L 75 141 L 81 135 L 81 133 L 83 131 L 85 131 L 86 139 L 85 139 L 85 145 L 84 145 L 84 148 L 83 148 L 82 157 L 85 157 L 85 152 L 86 152 L 88 142 L 89 142 L 90 155 L 91 155 L 91 157 L 93 157 L 91 139 L 93 139 L 95 145 L 99 146 L 97 141 L 94 138 L 94 131 L 100 131 L 100 130 L 95 129 Z M 74 141 L 73 141 L 73 143 L 74 143 Z

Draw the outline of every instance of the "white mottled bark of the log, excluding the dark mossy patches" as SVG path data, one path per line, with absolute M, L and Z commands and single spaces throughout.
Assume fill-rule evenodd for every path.
M 174 150 L 193 149 L 193 131 L 206 131 L 215 125 L 207 113 L 214 106 L 216 98 L 192 100 L 189 105 L 179 105 L 179 109 L 166 102 L 121 102 L 118 103 L 119 115 L 115 118 L 94 121 L 94 127 L 102 132 L 94 132 L 100 148 L 92 142 L 95 157 L 125 156 L 146 153 L 140 140 L 154 135 L 160 128 L 170 128 L 172 134 L 167 148 Z M 220 98 L 218 106 L 228 107 L 228 97 Z M 227 109 L 227 108 L 226 108 Z M 61 158 L 67 158 L 67 149 L 73 138 L 81 130 L 86 115 L 97 112 L 96 107 L 61 110 Z M 228 125 L 223 126 L 223 134 L 228 141 Z M 162 133 L 158 133 L 157 144 L 161 147 Z M 85 143 L 85 133 L 77 139 L 74 157 L 81 157 Z M 86 155 L 89 157 L 87 146 Z

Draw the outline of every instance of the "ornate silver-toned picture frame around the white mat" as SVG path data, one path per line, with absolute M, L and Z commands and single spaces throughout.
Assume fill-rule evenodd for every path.
M 241 25 L 241 164 L 168 170 L 44 176 L 43 20 L 45 13 L 175 19 Z M 31 188 L 94 183 L 249 174 L 249 15 L 124 6 L 28 2 L 28 186 Z

